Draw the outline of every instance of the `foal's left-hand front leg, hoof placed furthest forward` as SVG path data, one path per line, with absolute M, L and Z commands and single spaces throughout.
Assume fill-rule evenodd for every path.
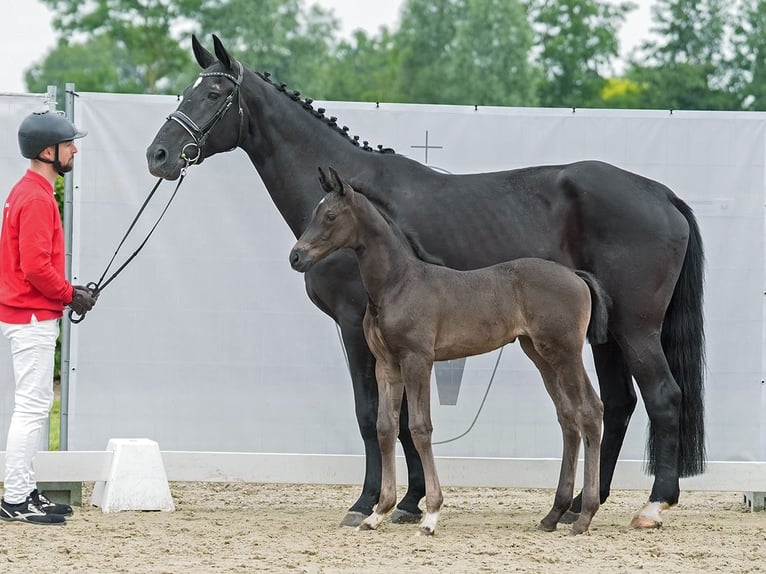
M 396 504 L 396 437 L 404 386 L 399 367 L 393 363 L 378 360 L 375 375 L 378 379 L 377 428 L 382 471 L 380 498 L 373 513 L 359 525 L 359 530 L 376 529 Z

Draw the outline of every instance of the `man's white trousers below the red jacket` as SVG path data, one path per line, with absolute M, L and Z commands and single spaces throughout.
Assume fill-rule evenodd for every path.
M 40 432 L 53 406 L 53 364 L 58 319 L 24 325 L 0 323 L 11 343 L 16 378 L 13 416 L 5 447 L 5 492 L 9 504 L 24 502 L 37 488 L 34 458 Z

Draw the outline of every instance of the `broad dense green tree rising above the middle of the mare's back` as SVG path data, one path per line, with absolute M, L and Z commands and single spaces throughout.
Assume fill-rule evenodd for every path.
M 535 103 L 532 35 L 517 0 L 407 0 L 395 43 L 404 101 Z

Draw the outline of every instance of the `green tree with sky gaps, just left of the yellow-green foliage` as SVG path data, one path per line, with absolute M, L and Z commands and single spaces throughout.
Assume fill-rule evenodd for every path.
M 602 91 L 620 55 L 617 34 L 635 7 L 604 0 L 530 0 L 537 63 L 545 79 L 542 105 L 603 105 Z

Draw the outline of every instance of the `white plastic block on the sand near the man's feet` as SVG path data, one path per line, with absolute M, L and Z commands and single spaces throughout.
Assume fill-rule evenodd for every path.
M 93 487 L 91 504 L 104 513 L 122 510 L 175 510 L 159 445 L 145 438 L 113 438 L 106 481 Z

